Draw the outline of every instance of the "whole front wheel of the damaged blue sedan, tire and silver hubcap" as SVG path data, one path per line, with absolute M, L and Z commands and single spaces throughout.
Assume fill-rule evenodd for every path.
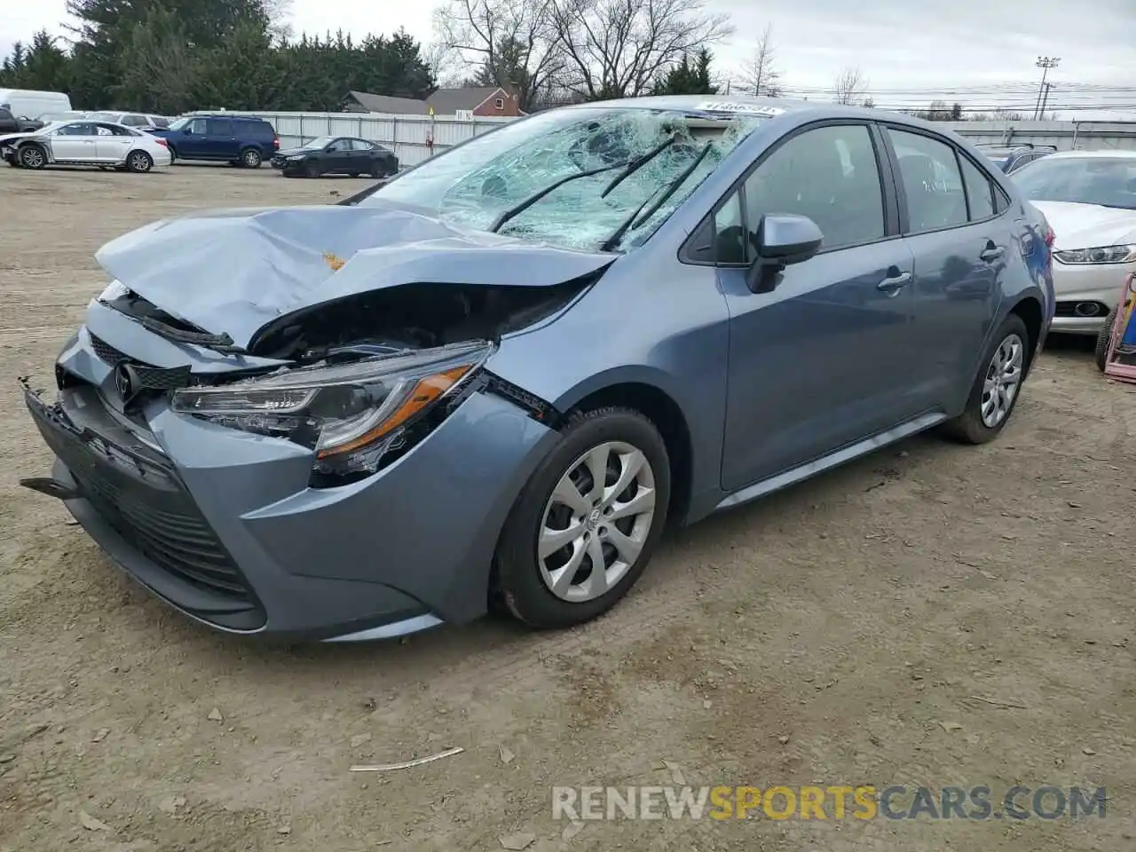
M 600 616 L 646 568 L 669 499 L 667 446 L 648 418 L 624 408 L 575 415 L 506 521 L 496 594 L 531 627 Z

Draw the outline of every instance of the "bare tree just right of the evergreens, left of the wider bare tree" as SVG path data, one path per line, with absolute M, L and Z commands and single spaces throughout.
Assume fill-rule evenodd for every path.
M 438 50 L 457 57 L 467 76 L 516 92 L 523 110 L 542 100 L 562 68 L 552 0 L 445 0 L 434 28 Z

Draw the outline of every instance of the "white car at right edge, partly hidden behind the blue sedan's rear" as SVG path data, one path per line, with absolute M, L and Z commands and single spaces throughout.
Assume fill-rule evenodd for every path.
M 1062 151 L 1016 170 L 1056 234 L 1052 329 L 1097 334 L 1136 272 L 1136 151 Z

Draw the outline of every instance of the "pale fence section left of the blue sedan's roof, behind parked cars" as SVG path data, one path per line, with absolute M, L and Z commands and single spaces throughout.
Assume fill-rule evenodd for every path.
M 451 145 L 512 120 L 496 117 L 392 116 L 382 112 L 242 111 L 241 115 L 259 116 L 272 122 L 281 137 L 282 149 L 298 148 L 319 136 L 356 136 L 392 149 L 403 166 L 414 166 Z

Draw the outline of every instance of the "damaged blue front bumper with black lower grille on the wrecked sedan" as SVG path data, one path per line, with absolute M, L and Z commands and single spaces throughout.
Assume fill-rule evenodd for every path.
M 90 360 L 89 340 L 65 351 L 65 369 Z M 67 508 L 134 579 L 241 634 L 379 638 L 481 616 L 500 528 L 556 440 L 478 391 L 374 476 L 310 488 L 303 448 L 164 403 L 132 434 L 107 400 L 82 383 L 55 404 L 26 394 L 52 478 L 75 490 Z

